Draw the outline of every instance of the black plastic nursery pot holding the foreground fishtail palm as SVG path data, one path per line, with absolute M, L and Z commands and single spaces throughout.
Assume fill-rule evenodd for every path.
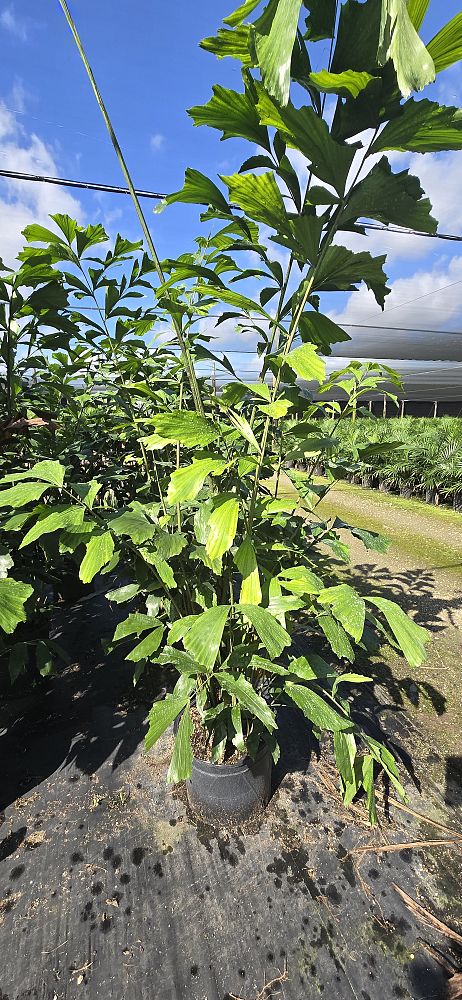
M 210 764 L 194 757 L 191 779 L 186 783 L 192 810 L 218 826 L 257 816 L 270 798 L 272 764 L 266 745 L 255 760 L 243 757 L 236 764 Z

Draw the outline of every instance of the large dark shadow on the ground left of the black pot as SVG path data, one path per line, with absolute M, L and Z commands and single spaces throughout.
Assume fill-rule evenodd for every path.
M 74 764 L 94 774 L 113 755 L 116 769 L 140 743 L 148 702 L 142 691 L 134 694 L 133 667 L 123 651 L 105 657 L 101 645 L 112 637 L 117 621 L 117 609 L 103 595 L 60 612 L 52 635 L 74 662 L 51 678 L 39 678 L 33 687 L 29 679 L 22 691 L 13 686 L 2 699 L 0 753 L 8 768 L 2 775 L 0 809 L 57 768 Z M 162 689 L 161 671 L 157 680 L 152 700 Z

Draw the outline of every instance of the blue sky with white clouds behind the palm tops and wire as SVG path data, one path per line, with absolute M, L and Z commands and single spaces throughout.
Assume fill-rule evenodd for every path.
M 430 7 L 422 30 L 424 40 L 459 10 L 455 0 L 444 4 L 433 0 Z M 252 152 L 248 145 L 234 139 L 220 142 L 215 131 L 194 128 L 186 114 L 186 108 L 208 100 L 213 83 L 240 87 L 237 64 L 217 61 L 198 45 L 201 38 L 215 32 L 232 4 L 224 0 L 177 4 L 74 0 L 71 9 L 137 186 L 175 190 L 181 187 L 188 165 L 212 177 L 239 168 Z M 2 4 L 0 0 L 0 41 L 0 166 L 121 183 L 118 163 L 56 0 L 49 4 L 36 0 Z M 321 68 L 326 52 L 325 46 L 318 48 Z M 462 70 L 456 67 L 440 74 L 428 96 L 462 104 Z M 421 177 L 441 230 L 462 233 L 462 154 L 395 157 L 394 165 L 401 161 Z M 200 228 L 195 208 L 173 206 L 160 216 L 153 214 L 151 202 L 145 203 L 145 209 L 161 256 L 174 256 L 191 247 Z M 128 199 L 0 181 L 0 255 L 11 259 L 21 228 L 33 219 L 44 222 L 51 211 L 69 211 L 82 221 L 102 221 L 111 233 L 120 230 L 138 236 Z M 462 329 L 462 244 L 374 234 L 368 249 L 390 252 L 393 291 L 385 316 L 366 291 L 334 296 L 329 302 L 331 314 L 345 323 L 384 326 L 390 314 L 386 336 L 353 331 L 356 353 L 441 358 L 446 364 L 447 359 L 461 359 L 462 337 L 411 337 L 391 328 Z

